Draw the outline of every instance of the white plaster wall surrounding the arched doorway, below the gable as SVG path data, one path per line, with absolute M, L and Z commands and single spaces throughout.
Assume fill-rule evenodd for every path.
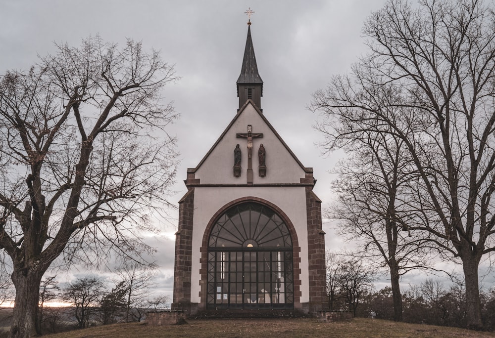
M 191 273 L 191 302 L 199 303 L 199 248 L 203 234 L 211 217 L 227 203 L 241 197 L 259 197 L 267 200 L 282 211 L 292 221 L 297 232 L 301 252 L 300 264 L 308 262 L 306 193 L 304 187 L 196 187 L 194 192 L 193 217 L 193 262 Z M 301 269 L 302 293 L 300 302 L 309 301 L 308 271 Z

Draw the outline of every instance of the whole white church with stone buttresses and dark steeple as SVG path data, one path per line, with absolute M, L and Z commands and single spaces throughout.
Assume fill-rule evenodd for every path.
M 188 315 L 303 315 L 327 304 L 316 179 L 261 109 L 263 81 L 247 24 L 239 108 L 187 169 L 179 201 L 172 309 Z

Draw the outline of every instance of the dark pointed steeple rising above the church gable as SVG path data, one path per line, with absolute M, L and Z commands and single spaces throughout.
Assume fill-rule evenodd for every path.
M 239 108 L 248 99 L 252 99 L 254 104 L 261 108 L 261 96 L 263 96 L 263 80 L 258 73 L 256 57 L 251 39 L 251 20 L 247 22 L 246 48 L 244 49 L 243 65 L 241 75 L 237 79 L 237 96 L 239 97 Z

